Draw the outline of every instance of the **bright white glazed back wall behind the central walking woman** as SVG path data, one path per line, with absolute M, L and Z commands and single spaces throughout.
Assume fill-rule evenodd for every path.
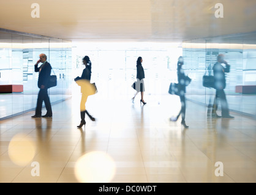
M 91 82 L 96 82 L 99 90 L 97 97 L 114 101 L 134 96 L 136 62 L 142 57 L 145 94 L 157 103 L 163 94 L 168 95 L 170 82 L 176 79 L 176 63 L 182 48 L 181 43 L 80 43 L 72 54 L 73 78 L 81 76 L 85 68 L 82 59 L 88 55 L 92 62 Z M 80 93 L 75 82 L 73 93 Z

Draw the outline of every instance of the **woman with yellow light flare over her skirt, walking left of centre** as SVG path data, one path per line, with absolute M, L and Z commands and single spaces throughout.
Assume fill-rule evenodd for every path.
M 95 121 L 95 118 L 93 118 L 91 115 L 89 115 L 88 111 L 85 108 L 86 101 L 88 99 L 88 96 L 91 94 L 94 94 L 93 92 L 93 86 L 90 83 L 91 80 L 91 61 L 89 57 L 86 55 L 83 58 L 83 65 L 85 65 L 85 69 L 83 69 L 83 74 L 81 77 L 75 78 L 75 82 L 78 83 L 78 85 L 81 86 L 81 103 L 80 103 L 80 115 L 81 115 L 81 122 L 80 125 L 77 126 L 78 128 L 83 127 L 86 122 L 85 122 L 85 114 L 89 116 L 89 118 L 92 121 Z

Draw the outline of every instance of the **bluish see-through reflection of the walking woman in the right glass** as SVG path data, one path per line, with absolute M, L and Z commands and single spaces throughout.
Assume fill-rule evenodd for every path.
M 177 120 L 179 116 L 181 115 L 181 124 L 185 128 L 189 128 L 189 126 L 186 125 L 185 122 L 185 116 L 186 116 L 186 98 L 185 98 L 185 93 L 186 93 L 186 80 L 187 76 L 184 73 L 184 69 L 182 66 L 184 65 L 184 59 L 182 56 L 179 57 L 178 59 L 178 64 L 177 64 L 177 75 L 178 75 L 178 88 L 179 88 L 179 99 L 181 100 L 181 111 L 179 112 L 179 115 L 177 116 Z

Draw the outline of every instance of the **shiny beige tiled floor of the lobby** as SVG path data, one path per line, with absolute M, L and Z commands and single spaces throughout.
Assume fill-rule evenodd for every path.
M 79 98 L 53 105 L 53 118 L 0 121 L 0 182 L 256 182 L 255 119 L 213 119 L 187 101 L 184 129 L 169 120 L 176 96 L 145 100 L 91 96 L 97 121 L 81 129 Z

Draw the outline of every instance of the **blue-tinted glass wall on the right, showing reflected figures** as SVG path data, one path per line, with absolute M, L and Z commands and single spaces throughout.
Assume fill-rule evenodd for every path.
M 203 75 L 213 75 L 213 65 L 217 55 L 224 54 L 230 65 L 226 73 L 225 93 L 228 107 L 234 112 L 256 118 L 256 93 L 241 93 L 238 86 L 256 87 L 256 44 L 254 41 L 233 37 L 228 39 L 211 38 L 183 43 L 183 56 L 186 73 L 192 77 L 187 87 L 187 98 L 200 104 L 212 105 L 216 90 L 202 85 Z M 224 65 L 225 66 L 225 65 Z

